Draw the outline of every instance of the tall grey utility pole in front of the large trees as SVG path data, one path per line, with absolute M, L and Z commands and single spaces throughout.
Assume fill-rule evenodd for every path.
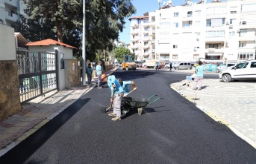
M 85 65 L 85 62 L 87 61 L 86 60 L 86 46 L 85 46 L 85 0 L 83 0 L 83 42 L 82 42 L 82 57 L 83 57 L 83 60 L 82 60 L 82 73 L 83 73 L 83 76 L 82 76 L 82 85 L 87 85 L 86 84 L 86 77 L 85 77 L 85 68 L 86 68 L 86 65 Z

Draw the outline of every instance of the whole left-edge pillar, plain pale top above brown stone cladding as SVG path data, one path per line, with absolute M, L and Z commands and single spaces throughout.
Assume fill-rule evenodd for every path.
M 21 110 L 14 29 L 0 24 L 0 121 Z

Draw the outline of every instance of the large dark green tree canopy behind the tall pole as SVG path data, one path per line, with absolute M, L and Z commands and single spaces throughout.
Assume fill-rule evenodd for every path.
M 75 56 L 81 56 L 83 28 L 82 0 L 22 0 L 27 4 L 25 13 L 14 27 L 29 41 L 57 39 L 77 47 Z M 113 41 L 125 27 L 125 18 L 136 13 L 131 0 L 86 1 L 86 53 L 95 59 L 99 51 L 113 50 Z

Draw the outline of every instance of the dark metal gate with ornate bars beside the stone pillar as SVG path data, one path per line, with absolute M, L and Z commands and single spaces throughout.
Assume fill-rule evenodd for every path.
M 16 59 L 21 103 L 58 88 L 57 50 L 49 53 L 16 49 Z

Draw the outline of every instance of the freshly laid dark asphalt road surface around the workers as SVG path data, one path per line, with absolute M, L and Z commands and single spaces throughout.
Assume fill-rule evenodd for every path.
M 213 121 L 169 84 L 186 72 L 117 70 L 138 87 L 130 96 L 163 97 L 119 122 L 103 114 L 110 89 L 94 88 L 1 157 L 0 163 L 256 163 L 256 150 Z M 205 74 L 205 78 L 218 78 Z

